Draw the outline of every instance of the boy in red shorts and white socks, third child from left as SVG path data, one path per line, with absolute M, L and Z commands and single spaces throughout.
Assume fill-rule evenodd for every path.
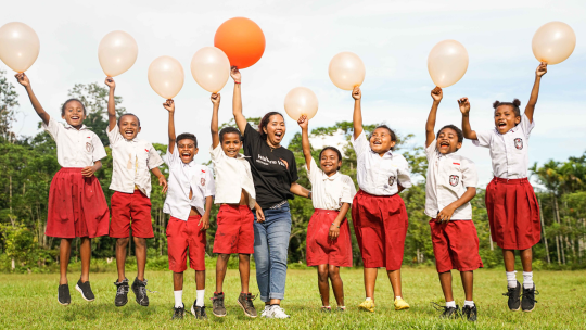
M 205 231 L 209 227 L 209 212 L 215 194 L 214 175 L 207 166 L 193 161 L 199 151 L 195 136 L 189 132 L 175 136 L 175 102 L 167 100 L 163 106 L 169 112 L 169 147 L 165 156 L 169 166 L 169 187 L 163 212 L 170 214 L 166 233 L 169 269 L 174 272 L 173 319 L 182 319 L 186 310 L 182 295 L 188 250 L 189 265 L 195 270 L 198 290 L 191 313 L 198 319 L 207 319 L 204 304 Z

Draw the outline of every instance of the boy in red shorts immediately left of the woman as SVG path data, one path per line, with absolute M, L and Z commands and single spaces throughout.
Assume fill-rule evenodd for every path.
M 249 291 L 251 254 L 254 253 L 254 215 L 251 210 L 256 205 L 251 165 L 240 153 L 242 148 L 240 130 L 234 127 L 225 127 L 218 134 L 219 93 L 212 94 L 212 103 L 214 103 L 214 110 L 209 153 L 216 172 L 215 203 L 220 204 L 213 251 L 218 254 L 218 259 L 212 313 L 217 317 L 226 316 L 224 278 L 230 254 L 238 253 L 241 292 L 237 302 L 244 315 L 255 318 L 257 317 L 253 304 L 255 297 Z M 260 207 L 256 210 L 263 212 Z

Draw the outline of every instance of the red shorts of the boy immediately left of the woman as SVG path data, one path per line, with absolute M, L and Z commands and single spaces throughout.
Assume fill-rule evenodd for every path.
M 214 253 L 254 253 L 254 215 L 249 205 L 221 204 L 217 221 Z

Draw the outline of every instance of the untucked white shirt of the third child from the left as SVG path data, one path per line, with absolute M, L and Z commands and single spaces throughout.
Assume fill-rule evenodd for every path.
M 184 164 L 179 158 L 177 148 L 175 148 L 175 153 L 170 153 L 167 149 L 165 162 L 169 165 L 169 183 L 163 212 L 187 221 L 193 206 L 203 216 L 205 198 L 216 193 L 212 169 L 205 165 L 195 164 L 194 161 Z M 193 192 L 191 200 L 189 199 L 190 190 Z

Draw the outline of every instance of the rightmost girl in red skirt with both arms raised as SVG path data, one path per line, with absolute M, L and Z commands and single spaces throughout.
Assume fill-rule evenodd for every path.
M 511 310 L 532 312 L 535 308 L 535 284 L 533 282 L 533 254 L 531 248 L 540 240 L 539 207 L 533 187 L 527 180 L 528 137 L 535 126 L 533 113 L 539 94 L 542 76 L 547 73 L 547 63 L 540 63 L 535 72 L 535 84 L 531 98 L 521 115 L 519 105 L 496 101 L 495 128 L 474 131 L 470 127 L 470 103 L 467 98 L 458 101 L 462 112 L 462 130 L 475 145 L 488 148 L 493 161 L 494 179 L 486 187 L 486 210 L 493 241 L 502 249 L 507 270 L 508 305 Z M 521 254 L 523 265 L 523 301 L 521 285 L 514 271 L 514 250 Z

